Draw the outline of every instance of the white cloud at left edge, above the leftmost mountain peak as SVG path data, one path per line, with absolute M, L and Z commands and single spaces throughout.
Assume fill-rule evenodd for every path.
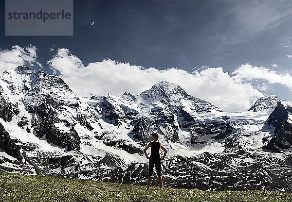
M 17 67 L 19 65 L 39 66 L 37 62 L 37 48 L 29 45 L 26 47 L 13 46 L 11 50 L 0 51 L 0 72 L 4 70 Z

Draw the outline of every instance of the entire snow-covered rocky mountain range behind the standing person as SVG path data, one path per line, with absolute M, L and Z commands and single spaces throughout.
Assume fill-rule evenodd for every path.
M 19 66 L 0 75 L 0 169 L 146 185 L 143 150 L 158 132 L 165 186 L 292 191 L 291 114 L 292 102 L 272 95 L 226 113 L 166 81 L 82 98 Z

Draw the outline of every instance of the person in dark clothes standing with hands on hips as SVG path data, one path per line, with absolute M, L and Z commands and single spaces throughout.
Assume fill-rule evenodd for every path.
M 160 144 L 160 142 L 158 142 L 158 133 L 154 133 L 152 134 L 152 140 L 153 142 L 150 142 L 146 148 L 144 149 L 144 153 L 147 159 L 149 159 L 149 168 L 148 168 L 148 180 L 147 180 L 147 190 L 149 190 L 150 187 L 150 182 L 151 182 L 151 176 L 153 173 L 153 167 L 155 164 L 155 169 L 156 169 L 156 173 L 158 176 L 158 182 L 159 182 L 159 186 L 162 189 L 162 177 L 161 177 L 161 160 L 164 159 L 164 157 L 166 156 L 167 151 L 165 150 L 165 148 Z M 147 149 L 151 147 L 151 155 L 150 157 L 148 157 L 146 151 Z M 160 154 L 159 154 L 159 149 L 162 149 L 164 151 L 164 156 L 161 158 Z

